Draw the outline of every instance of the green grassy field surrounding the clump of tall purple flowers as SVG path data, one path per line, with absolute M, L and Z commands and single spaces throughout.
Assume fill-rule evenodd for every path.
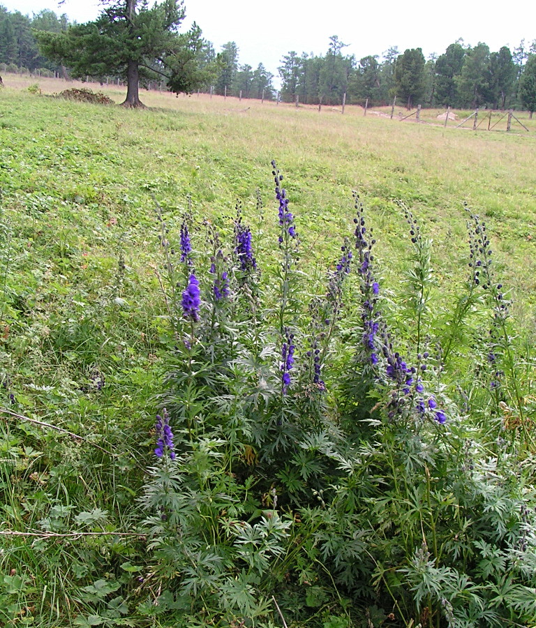
M 371 112 L 365 117 L 361 107 L 347 106 L 342 115 L 332 107 L 323 107 L 319 113 L 317 107 L 195 94 L 177 98 L 151 91 L 141 94 L 147 109 L 133 111 L 52 98 L 75 85 L 61 80 L 4 75 L 3 82 L 0 379 L 4 412 L 0 447 L 4 466 L 0 490 L 4 505 L 0 532 L 6 537 L 0 541 L 0 571 L 3 569 L 7 592 L 0 592 L 0 612 L 6 625 L 34 622 L 43 628 L 59 628 L 122 625 L 122 620 L 127 625 L 126 617 L 134 613 L 133 608 L 137 608 L 140 623 L 131 625 L 167 625 L 143 606 L 144 596 L 158 598 L 158 586 L 134 587 L 125 579 L 138 573 L 137 564 L 140 570 L 146 569 L 139 543 L 95 541 L 92 545 L 91 541 L 82 549 L 73 544 L 62 550 L 53 538 L 31 542 L 16 534 L 9 536 L 28 530 L 62 534 L 73 526 L 80 533 L 111 533 L 120 528 L 135 534 L 140 530 L 135 500 L 145 482 L 140 468 L 152 464 L 151 424 L 160 408 L 157 400 L 165 389 L 165 377 L 178 359 L 174 356 L 177 338 L 167 315 L 169 301 L 161 289 L 165 260 L 158 237 L 166 235 L 158 224 L 157 203 L 175 242 L 184 213 L 191 207 L 191 225 L 197 230 L 194 249 L 200 249 L 206 244 L 204 233 L 207 228 L 210 231 L 210 225 L 223 239 L 232 239 L 235 205 L 241 202 L 258 261 L 273 269 L 278 263 L 275 243 L 280 232 L 270 166 L 275 159 L 295 215 L 304 271 L 302 287 L 307 292 L 322 280 L 327 267 L 334 267 L 343 237 L 354 230 L 352 190 L 357 190 L 377 239 L 375 263 L 392 307 L 390 316 L 405 334 L 408 346 L 412 345 L 414 321 L 405 320 L 412 299 L 405 285 L 413 253 L 405 217 L 396 201 L 410 208 L 423 236 L 433 241 L 433 274 L 426 285 L 433 297 L 432 309 L 444 317 L 451 313 L 468 274 L 466 203 L 486 223 L 496 273 L 512 300 L 516 342 L 527 348 L 534 341 L 536 119 L 529 120 L 528 114 L 516 115 L 529 132 L 513 126 L 512 132 L 506 133 L 503 120 L 492 131 L 484 130 L 484 122 L 473 133 L 468 128 L 454 128 L 454 122 L 444 128 L 437 119 L 440 112 L 435 110 L 424 110 L 424 124 L 415 124 Z M 28 89 L 36 83 L 38 90 Z M 124 96 L 124 89 L 117 87 L 89 87 L 102 89 L 117 103 Z M 383 112 L 388 114 L 389 109 Z M 469 113 L 457 112 L 459 120 Z M 403 114 L 404 110 L 397 109 L 395 118 Z M 499 115 L 494 115 L 498 120 Z M 256 190 L 260 190 L 262 207 Z M 271 294 L 274 281 L 270 272 L 261 276 L 266 294 Z M 357 309 L 352 315 L 359 320 Z M 483 315 L 475 314 L 472 325 L 484 329 Z M 346 338 L 352 338 L 350 327 L 346 332 Z M 459 362 L 447 373 L 444 385 L 451 396 L 466 385 L 469 389 L 468 382 L 475 377 L 475 372 L 466 368 L 472 351 L 470 344 L 468 347 L 460 351 Z M 343 353 L 336 364 L 336 368 L 348 366 Z M 511 381 L 515 379 L 513 368 Z M 527 416 L 533 417 L 534 357 L 528 348 L 519 368 L 525 395 L 519 405 L 524 404 Z M 519 401 L 519 393 L 517 398 Z M 475 393 L 474 403 L 479 399 Z M 475 426 L 480 426 L 487 412 L 484 402 L 481 406 Z M 17 421 L 13 413 L 15 419 L 19 417 Z M 64 438 L 54 428 L 43 429 L 35 421 L 59 426 L 81 438 Z M 475 442 L 480 438 L 476 430 Z M 463 438 L 469 438 L 467 433 Z M 496 435 L 489 436 L 482 451 L 487 448 L 491 456 L 495 442 Z M 534 454 L 530 442 L 525 442 L 523 449 L 523 456 L 528 456 L 523 458 L 528 476 Z M 460 445 L 460 451 L 463 447 Z M 484 458 L 488 453 L 484 456 L 482 451 Z M 375 472 L 387 474 L 387 467 Z M 430 480 L 429 471 L 426 473 Z M 225 477 L 231 475 L 229 470 Z M 523 486 L 527 495 L 533 495 L 528 476 Z M 426 484 L 424 472 L 419 482 L 419 486 Z M 275 479 L 272 486 L 276 486 Z M 265 488 L 265 495 L 271 494 L 269 482 Z M 261 501 L 259 498 L 258 509 L 265 507 Z M 103 511 L 108 514 L 99 515 Z M 415 528 L 418 543 L 419 530 L 426 528 L 422 525 L 420 521 Z M 303 537 L 297 533 L 296 538 L 295 547 L 301 548 Z M 303 544 L 306 546 L 305 540 Z M 287 557 L 294 556 L 294 550 L 285 551 Z M 378 565 L 376 568 L 380 582 L 381 570 Z M 151 578 L 156 580 L 158 569 L 147 569 L 154 569 Z M 386 567 L 382 578 L 387 578 L 387 571 Z M 15 576 L 20 576 L 20 581 L 15 581 Z M 312 609 L 311 618 L 301 618 L 292 626 L 360 626 L 355 618 L 355 623 L 349 623 L 350 611 L 341 611 L 348 608 L 341 598 L 343 588 L 339 588 L 338 598 L 329 597 L 327 591 L 335 581 L 332 578 L 331 583 L 321 584 L 322 574 L 318 577 L 318 590 L 308 594 L 306 604 Z M 68 578 L 79 583 L 79 588 L 71 586 Z M 148 581 L 151 578 L 147 576 Z M 112 583 L 111 588 L 99 592 L 96 583 L 105 580 Z M 385 582 L 389 588 L 387 579 Z M 254 578 L 248 583 L 258 585 Z M 128 589 L 128 595 L 122 594 L 116 606 L 126 604 L 130 610 L 114 615 L 116 607 L 110 599 L 119 587 Z M 207 599 L 210 595 L 207 593 Z M 265 595 L 269 599 L 267 591 Z M 431 609 L 431 593 L 426 595 L 426 608 Z M 335 601 L 326 601 L 328 597 Z M 297 604 L 295 599 L 289 598 L 286 613 Z M 109 606 L 103 610 L 105 600 Z M 452 600 L 456 607 L 455 598 Z M 376 603 L 380 605 L 380 601 Z M 237 602 L 241 615 L 233 615 L 235 618 L 246 617 L 253 608 L 249 601 L 240 604 Z M 154 606 L 151 608 L 154 611 Z M 261 613 L 257 623 L 251 619 L 239 624 L 236 619 L 232 624 L 230 615 L 218 623 L 216 611 L 208 608 L 209 602 L 198 611 L 206 623 L 200 619 L 199 624 L 188 625 L 281 625 L 276 613 L 271 620 L 262 619 L 265 615 Z M 387 617 L 387 606 L 383 608 Z M 399 607 L 392 608 L 396 626 L 409 628 L 419 621 L 412 615 L 415 622 L 411 624 L 409 611 L 399 615 Z M 534 625 L 527 619 L 530 608 L 523 610 L 524 614 L 520 611 L 517 621 L 521 623 L 516 625 Z M 422 613 L 423 625 L 447 626 L 439 614 Z M 253 611 L 250 615 L 254 617 Z M 377 621 L 371 620 L 368 628 L 384 625 L 384 621 L 391 625 L 385 618 Z M 485 624 L 467 624 L 472 625 Z

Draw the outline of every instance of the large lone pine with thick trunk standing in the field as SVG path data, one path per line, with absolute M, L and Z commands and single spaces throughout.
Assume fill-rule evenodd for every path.
M 184 19 L 182 0 L 105 1 L 94 22 L 75 24 L 65 33 L 36 31 L 40 50 L 69 66 L 74 77 L 118 76 L 127 82 L 126 107 L 142 107 L 140 80 L 163 75 L 171 89 L 189 84 L 177 80 L 184 63 L 175 63 L 184 48 L 177 36 Z

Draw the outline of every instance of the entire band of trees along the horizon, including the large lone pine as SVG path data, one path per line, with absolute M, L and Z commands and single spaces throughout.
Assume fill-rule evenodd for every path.
M 385 105 L 396 96 L 408 108 L 420 104 L 524 107 L 531 114 L 536 110 L 536 40 L 531 45 L 522 40 L 514 50 L 503 46 L 498 52 L 485 43 L 472 47 L 458 40 L 429 59 L 418 47 L 403 53 L 390 47 L 381 57 L 374 54 L 357 61 L 355 55 L 344 54 L 347 45 L 332 36 L 324 55 L 285 54 L 277 91 L 275 77 L 263 63 L 256 68 L 239 63 L 234 41 L 216 53 L 197 24 L 179 33 L 184 19 L 181 2 L 164 0 L 151 9 L 137 4 L 136 0 L 112 4 L 87 24 L 70 24 L 66 15 L 58 17 L 51 10 L 28 17 L 0 6 L 0 68 L 68 72 L 101 81 L 120 77 L 142 87 L 154 81 L 177 93 L 201 90 L 313 105 L 340 105 L 343 98 L 350 104 L 368 100 L 369 105 Z

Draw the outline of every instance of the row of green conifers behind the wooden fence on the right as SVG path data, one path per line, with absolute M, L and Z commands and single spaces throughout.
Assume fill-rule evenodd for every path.
M 536 40 L 491 52 L 485 43 L 471 47 L 458 40 L 439 57 L 424 58 L 421 48 L 400 53 L 391 47 L 378 55 L 355 59 L 344 55 L 338 37 L 330 38 L 324 56 L 289 52 L 279 68 L 281 98 L 300 103 L 385 105 L 393 98 L 408 106 L 526 107 L 535 110 Z

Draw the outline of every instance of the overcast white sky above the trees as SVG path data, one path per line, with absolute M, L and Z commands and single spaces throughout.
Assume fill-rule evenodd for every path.
M 77 22 L 94 20 L 101 6 L 95 0 L 66 0 L 61 6 L 57 0 L 0 0 L 0 5 L 30 17 L 49 8 Z M 458 38 L 468 45 L 485 42 L 492 51 L 503 45 L 513 50 L 523 38 L 527 44 L 536 39 L 534 0 L 185 0 L 185 6 L 183 29 L 195 20 L 216 52 L 235 41 L 239 63 L 253 68 L 264 63 L 274 75 L 290 50 L 325 54 L 332 35 L 348 44 L 343 54 L 355 54 L 357 59 L 368 54 L 381 57 L 391 46 L 398 46 L 400 52 L 421 47 L 428 58 L 433 52 L 442 54 Z

